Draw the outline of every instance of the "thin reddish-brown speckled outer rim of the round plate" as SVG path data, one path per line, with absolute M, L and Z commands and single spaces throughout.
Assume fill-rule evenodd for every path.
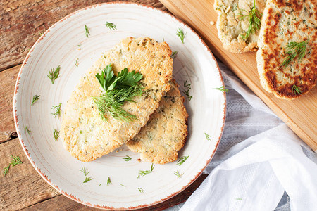
M 221 83 L 223 85 L 223 87 L 225 87 L 225 84 L 223 82 L 223 75 L 221 74 L 221 71 L 220 71 L 220 68 L 219 68 L 219 65 L 218 65 L 218 62 L 215 58 L 215 56 L 213 56 L 213 53 L 211 52 L 211 50 L 209 49 L 209 46 L 206 45 L 205 41 L 203 39 L 201 39 L 201 37 L 199 36 L 199 34 L 197 34 L 197 32 L 195 32 L 194 30 L 192 30 L 192 27 L 189 27 L 189 25 L 187 25 L 186 23 L 184 23 L 182 20 L 180 20 L 179 18 L 177 18 L 176 16 L 170 14 L 170 13 L 167 13 L 166 11 L 162 11 L 161 9 L 159 8 L 155 8 L 154 6 L 148 6 L 148 5 L 145 5 L 145 4 L 139 4 L 139 3 L 134 3 L 134 2 L 129 2 L 129 1 L 120 1 L 120 2 L 104 2 L 104 3 L 101 3 L 101 4 L 93 4 L 91 6 L 87 6 L 85 8 L 81 8 L 77 11 L 74 11 L 73 13 L 70 13 L 68 15 L 66 15 L 65 17 L 61 18 L 60 20 L 58 20 L 56 23 L 54 23 L 53 25 L 51 25 L 51 27 L 49 27 L 43 34 L 41 37 L 39 37 L 39 39 L 37 39 L 37 41 L 35 41 L 35 44 L 33 44 L 32 48 L 30 49 L 30 51 L 27 53 L 27 56 L 25 57 L 25 59 L 23 60 L 23 64 L 21 65 L 21 68 L 18 72 L 18 77 L 16 79 L 16 82 L 15 82 L 15 89 L 14 89 L 14 96 L 13 96 L 13 116 L 14 116 L 14 123 L 15 123 L 15 129 L 16 129 L 16 132 L 18 134 L 18 139 L 20 141 L 20 144 L 23 148 L 23 151 L 25 153 L 25 155 L 27 155 L 27 159 L 30 161 L 32 167 L 35 168 L 35 170 L 37 171 L 37 173 L 49 184 L 51 185 L 54 189 L 56 189 L 56 191 L 58 191 L 59 193 L 63 194 L 63 196 L 66 196 L 67 198 L 70 198 L 71 200 L 75 200 L 75 202 L 77 203 L 81 203 L 83 205 L 87 205 L 89 207 L 95 207 L 95 208 L 99 208 L 99 209 L 104 209 L 104 210 L 126 210 L 126 209 L 129 209 L 129 210 L 135 210 L 135 209 L 140 209 L 140 208 L 146 208 L 146 207 L 151 207 L 153 205 L 157 205 L 159 203 L 163 203 L 164 201 L 170 199 L 170 198 L 173 198 L 174 196 L 178 195 L 178 193 L 181 193 L 182 191 L 184 191 L 187 187 L 189 187 L 194 181 L 196 181 L 196 179 L 201 175 L 201 173 L 206 169 L 207 165 L 209 164 L 209 162 L 211 161 L 211 159 L 213 158 L 213 156 L 215 155 L 216 153 L 216 150 L 218 148 L 218 145 L 219 145 L 219 142 L 220 142 L 220 139 L 221 139 L 221 136 L 223 135 L 223 128 L 225 126 L 225 118 L 226 118 L 226 110 L 227 110 L 227 98 L 226 98 L 226 93 L 225 91 L 223 92 L 222 96 L 224 98 L 224 103 L 223 103 L 223 122 L 222 122 L 222 126 L 220 128 L 220 136 L 218 137 L 217 141 L 216 141 L 216 146 L 215 146 L 215 149 L 213 150 L 213 152 L 211 153 L 211 156 L 209 158 L 209 160 L 206 160 L 206 164 L 204 165 L 204 167 L 200 170 L 200 172 L 197 173 L 197 175 L 194 177 L 194 179 L 192 179 L 191 181 L 188 182 L 187 185 L 185 186 L 182 186 L 182 188 L 180 188 L 179 191 L 176 191 L 175 193 L 172 193 L 170 194 L 169 196 L 167 196 L 166 198 L 163 198 L 159 201 L 155 201 L 151 204 L 144 204 L 144 205 L 137 205 L 135 207 L 120 207 L 120 208 L 115 208 L 115 207 L 109 207 L 107 205 L 95 205 L 95 204 L 91 204 L 89 202 L 84 202 L 78 198 L 76 198 L 76 196 L 73 196 L 72 194 L 70 193 L 67 193 L 66 191 L 63 191 L 61 190 L 58 186 L 56 186 L 55 184 L 53 184 L 51 182 L 51 179 L 49 179 L 47 177 L 46 174 L 44 174 L 44 172 L 42 172 L 36 165 L 35 165 L 35 162 L 30 158 L 30 153 L 28 152 L 27 150 L 27 147 L 25 146 L 24 144 L 24 141 L 20 135 L 20 130 L 19 130 L 19 123 L 18 123 L 18 116 L 17 116 L 17 109 L 16 109 L 16 94 L 17 94 L 17 91 L 19 89 L 19 84 L 20 84 L 20 75 L 23 71 L 23 68 L 25 66 L 25 64 L 27 63 L 27 60 L 30 58 L 30 55 L 32 53 L 32 51 L 35 49 L 35 46 L 37 46 L 37 44 L 39 44 L 39 41 L 41 41 L 42 39 L 44 39 L 44 37 L 46 37 L 46 34 L 50 32 L 51 29 L 53 29 L 54 27 L 56 27 L 56 25 L 58 25 L 59 23 L 62 23 L 64 20 L 70 18 L 71 16 L 75 15 L 76 13 L 79 13 L 80 11 L 85 11 L 87 9 L 92 9 L 92 8 L 96 8 L 97 6 L 103 6 L 103 5 L 110 5 L 110 4 L 115 4 L 115 5 L 135 5 L 135 6 L 140 6 L 142 8 L 151 8 L 152 10 L 154 11 L 158 11 L 158 12 L 161 12 L 163 13 L 163 15 L 168 15 L 170 16 L 170 18 L 175 18 L 179 23 L 182 23 L 183 25 L 185 25 L 186 27 L 189 28 L 189 30 L 191 30 L 192 33 L 196 34 L 196 36 L 198 37 L 198 39 L 201 41 L 201 44 L 203 44 L 207 51 L 211 54 L 211 57 L 213 58 L 213 60 L 215 61 L 216 63 L 216 67 L 218 68 L 218 73 L 219 73 L 219 76 L 220 76 L 220 80 L 221 80 Z

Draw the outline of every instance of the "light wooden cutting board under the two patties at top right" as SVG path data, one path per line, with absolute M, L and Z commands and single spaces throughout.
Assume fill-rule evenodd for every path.
M 195 30 L 215 56 L 259 96 L 313 151 L 317 152 L 317 88 L 293 101 L 275 98 L 260 84 L 256 70 L 256 53 L 235 54 L 225 51 L 218 39 L 213 10 L 214 0 L 160 0 L 177 18 Z M 215 24 L 211 25 L 213 21 Z M 175 29 L 176 31 L 176 29 Z

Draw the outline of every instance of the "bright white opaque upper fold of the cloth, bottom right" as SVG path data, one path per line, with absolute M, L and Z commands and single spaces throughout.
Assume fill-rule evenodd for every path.
M 316 210 L 317 165 L 285 125 L 237 144 L 181 210 L 274 210 L 284 190 L 291 210 Z

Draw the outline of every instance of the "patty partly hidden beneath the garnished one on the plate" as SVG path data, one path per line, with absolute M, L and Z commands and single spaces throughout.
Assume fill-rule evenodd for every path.
M 161 99 L 159 108 L 126 145 L 131 151 L 141 153 L 144 161 L 158 164 L 173 162 L 178 159 L 178 151 L 185 144 L 187 117 L 184 97 L 173 82 L 170 91 Z

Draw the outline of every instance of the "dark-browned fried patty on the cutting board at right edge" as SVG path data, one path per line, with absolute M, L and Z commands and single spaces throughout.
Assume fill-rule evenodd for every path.
M 317 1 L 268 0 L 263 12 L 256 53 L 261 85 L 276 97 L 292 100 L 316 85 L 317 75 Z M 280 68 L 287 58 L 287 44 L 307 41 L 305 56 L 294 58 Z

